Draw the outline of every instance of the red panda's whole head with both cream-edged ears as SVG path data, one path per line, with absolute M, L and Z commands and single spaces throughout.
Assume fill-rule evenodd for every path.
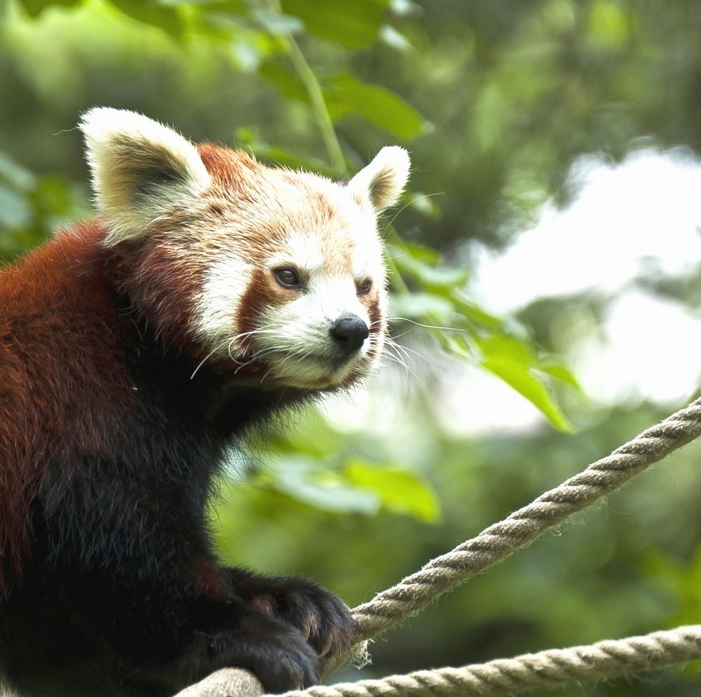
M 409 156 L 383 148 L 350 182 L 196 145 L 132 111 L 81 128 L 95 197 L 137 310 L 193 365 L 261 386 L 348 386 L 379 361 L 387 322 L 378 215 Z

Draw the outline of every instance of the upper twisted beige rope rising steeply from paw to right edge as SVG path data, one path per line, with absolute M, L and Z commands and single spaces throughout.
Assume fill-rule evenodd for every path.
M 701 399 L 648 428 L 637 438 L 562 485 L 428 562 L 421 570 L 353 609 L 358 641 L 381 634 L 438 596 L 530 543 L 577 510 L 618 489 L 633 475 L 701 435 Z M 334 668 L 341 661 L 334 661 Z

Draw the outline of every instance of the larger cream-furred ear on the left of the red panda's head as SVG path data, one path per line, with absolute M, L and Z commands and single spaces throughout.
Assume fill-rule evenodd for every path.
M 174 205 L 192 205 L 210 184 L 196 147 L 142 114 L 104 107 L 81 118 L 105 244 L 142 235 Z

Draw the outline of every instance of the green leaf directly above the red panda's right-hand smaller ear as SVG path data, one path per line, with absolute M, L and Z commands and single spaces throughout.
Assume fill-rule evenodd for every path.
M 402 97 L 387 88 L 362 82 L 350 73 L 336 75 L 325 88 L 324 98 L 333 121 L 360 114 L 402 140 L 411 140 L 430 129 L 423 116 Z

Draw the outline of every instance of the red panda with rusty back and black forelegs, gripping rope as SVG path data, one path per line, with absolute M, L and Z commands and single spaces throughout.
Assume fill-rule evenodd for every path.
M 353 640 L 345 604 L 219 564 L 205 508 L 232 442 L 378 363 L 377 217 L 407 152 L 332 182 L 131 111 L 80 127 L 100 217 L 0 271 L 1 684 L 161 697 L 224 666 L 315 684 Z

